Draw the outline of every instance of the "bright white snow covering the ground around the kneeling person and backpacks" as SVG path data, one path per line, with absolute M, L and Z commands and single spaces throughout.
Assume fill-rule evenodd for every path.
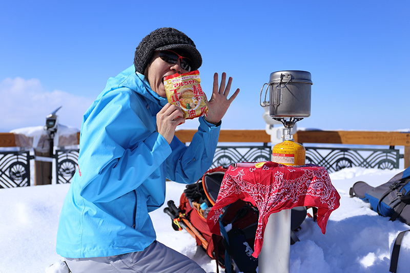
M 326 234 L 317 223 L 306 218 L 297 232 L 300 241 L 291 246 L 290 271 L 310 272 L 388 272 L 394 240 L 409 227 L 378 216 L 367 203 L 349 197 L 356 181 L 377 186 L 402 170 L 378 170 L 353 167 L 331 173 L 341 199 L 340 207 L 327 222 Z M 55 253 L 58 215 L 69 184 L 0 189 L 0 272 L 48 272 L 59 268 L 63 260 Z M 167 182 L 166 201 L 179 197 L 185 185 Z M 310 211 L 308 211 L 310 212 Z M 196 246 L 185 230 L 176 232 L 163 207 L 150 213 L 157 240 L 187 255 L 207 272 L 215 272 L 215 261 Z M 400 250 L 398 272 L 408 271 L 410 236 Z M 406 268 L 407 267 L 407 268 Z M 53 269 L 53 270 L 51 270 Z

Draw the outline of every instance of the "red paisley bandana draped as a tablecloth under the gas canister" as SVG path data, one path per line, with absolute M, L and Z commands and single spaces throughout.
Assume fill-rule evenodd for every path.
M 254 257 L 260 253 L 264 229 L 272 213 L 296 206 L 317 207 L 317 224 L 325 234 L 330 214 L 340 205 L 340 196 L 324 167 L 313 164 L 286 166 L 275 162 L 258 168 L 231 165 L 208 214 L 211 232 L 219 234 L 218 219 L 222 208 L 238 199 L 251 202 L 259 209 Z

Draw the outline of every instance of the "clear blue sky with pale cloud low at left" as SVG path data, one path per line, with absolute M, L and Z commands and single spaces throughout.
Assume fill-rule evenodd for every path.
M 410 128 L 408 1 L 3 1 L 0 132 L 60 122 L 80 127 L 107 79 L 133 64 L 159 27 L 190 36 L 202 89 L 214 72 L 241 92 L 223 129 L 264 129 L 259 93 L 270 73 L 312 73 L 311 116 L 301 128 Z M 194 127 L 196 121 L 186 127 Z

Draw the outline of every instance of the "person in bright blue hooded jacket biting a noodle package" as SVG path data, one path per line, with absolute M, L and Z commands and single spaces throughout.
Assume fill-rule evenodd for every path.
M 149 212 L 165 201 L 166 179 L 193 183 L 212 164 L 232 78 L 214 75 L 208 116 L 189 147 L 175 137 L 182 111 L 163 78 L 198 69 L 193 41 L 173 28 L 147 35 L 134 66 L 110 78 L 81 125 L 78 170 L 61 209 L 57 253 L 72 272 L 204 272 L 157 242 Z

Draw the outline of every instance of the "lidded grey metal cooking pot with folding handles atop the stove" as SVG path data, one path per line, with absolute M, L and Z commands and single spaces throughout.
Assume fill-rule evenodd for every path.
M 265 85 L 263 104 L 262 92 Z M 289 70 L 271 73 L 269 83 L 260 90 L 259 103 L 269 107 L 271 117 L 309 117 L 311 115 L 312 76 L 308 71 Z M 266 96 L 269 87 L 269 100 Z

